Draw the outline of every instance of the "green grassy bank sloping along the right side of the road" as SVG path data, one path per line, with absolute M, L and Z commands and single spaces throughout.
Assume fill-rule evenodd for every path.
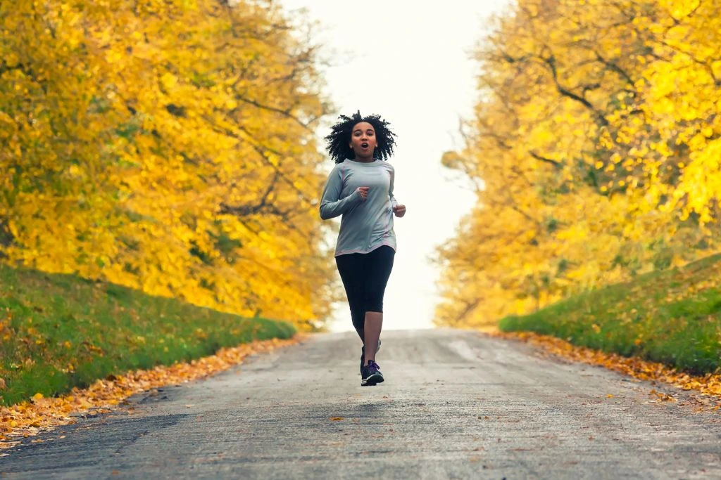
M 721 371 L 721 255 L 573 296 L 500 330 L 531 331 L 689 373 Z

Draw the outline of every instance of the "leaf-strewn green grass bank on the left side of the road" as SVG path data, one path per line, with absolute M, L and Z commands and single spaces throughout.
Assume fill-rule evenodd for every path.
M 251 340 L 291 338 L 247 319 L 123 286 L 0 265 L 0 404 L 62 394 L 111 374 L 169 365 Z

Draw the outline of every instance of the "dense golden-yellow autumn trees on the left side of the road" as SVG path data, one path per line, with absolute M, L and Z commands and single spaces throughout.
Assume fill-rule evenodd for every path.
M 301 34 L 270 1 L 0 4 L 6 261 L 322 327 L 328 106 Z

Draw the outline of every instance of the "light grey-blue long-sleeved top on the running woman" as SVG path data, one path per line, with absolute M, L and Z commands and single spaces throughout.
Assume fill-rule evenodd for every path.
M 346 159 L 335 165 L 320 201 L 322 219 L 342 215 L 335 256 L 368 253 L 381 245 L 396 250 L 394 176 L 393 166 L 384 160 L 364 163 Z M 370 187 L 366 199 L 358 191 L 361 186 Z

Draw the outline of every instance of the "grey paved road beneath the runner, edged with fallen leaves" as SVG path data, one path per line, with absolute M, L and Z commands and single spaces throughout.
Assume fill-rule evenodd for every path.
M 384 332 L 386 382 L 361 387 L 353 335 L 134 397 L 12 450 L 2 478 L 721 478 L 721 415 L 658 386 L 423 330 Z

